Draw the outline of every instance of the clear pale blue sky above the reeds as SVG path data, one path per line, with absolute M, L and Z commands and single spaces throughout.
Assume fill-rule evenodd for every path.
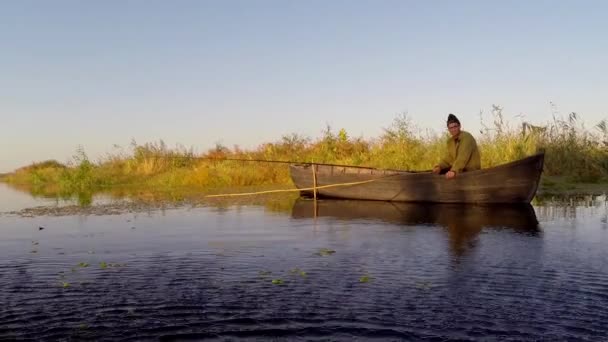
M 608 116 L 608 1 L 2 1 L 0 172 L 164 139 L 205 151 L 399 112 L 478 130 Z M 516 121 L 514 121 L 516 122 Z M 474 132 L 475 133 L 475 132 Z

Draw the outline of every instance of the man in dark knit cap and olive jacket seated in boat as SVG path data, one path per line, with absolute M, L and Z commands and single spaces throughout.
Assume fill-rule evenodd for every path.
M 451 137 L 447 141 L 447 153 L 433 168 L 433 173 L 447 170 L 445 177 L 452 179 L 459 173 L 481 169 L 477 142 L 471 133 L 460 129 L 460 121 L 454 114 L 448 115 L 448 131 Z

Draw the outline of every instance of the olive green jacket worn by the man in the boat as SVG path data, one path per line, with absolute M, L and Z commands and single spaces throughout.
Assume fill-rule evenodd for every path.
M 457 173 L 481 169 L 481 158 L 477 142 L 469 132 L 460 131 L 456 138 L 447 141 L 447 153 L 438 166 Z

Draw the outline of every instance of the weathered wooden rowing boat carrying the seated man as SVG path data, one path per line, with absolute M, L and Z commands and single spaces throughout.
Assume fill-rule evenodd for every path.
M 544 153 L 471 172 L 454 179 L 410 172 L 331 164 L 292 164 L 301 194 L 320 198 L 436 203 L 530 203 L 543 171 Z M 313 168 L 315 172 L 313 173 Z

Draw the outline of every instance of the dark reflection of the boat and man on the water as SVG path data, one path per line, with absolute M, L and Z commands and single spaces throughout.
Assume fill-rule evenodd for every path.
M 530 204 L 466 205 L 355 200 L 298 199 L 292 217 L 377 220 L 396 225 L 436 225 L 447 230 L 451 250 L 462 255 L 483 229 L 509 229 L 527 235 L 540 232 Z

